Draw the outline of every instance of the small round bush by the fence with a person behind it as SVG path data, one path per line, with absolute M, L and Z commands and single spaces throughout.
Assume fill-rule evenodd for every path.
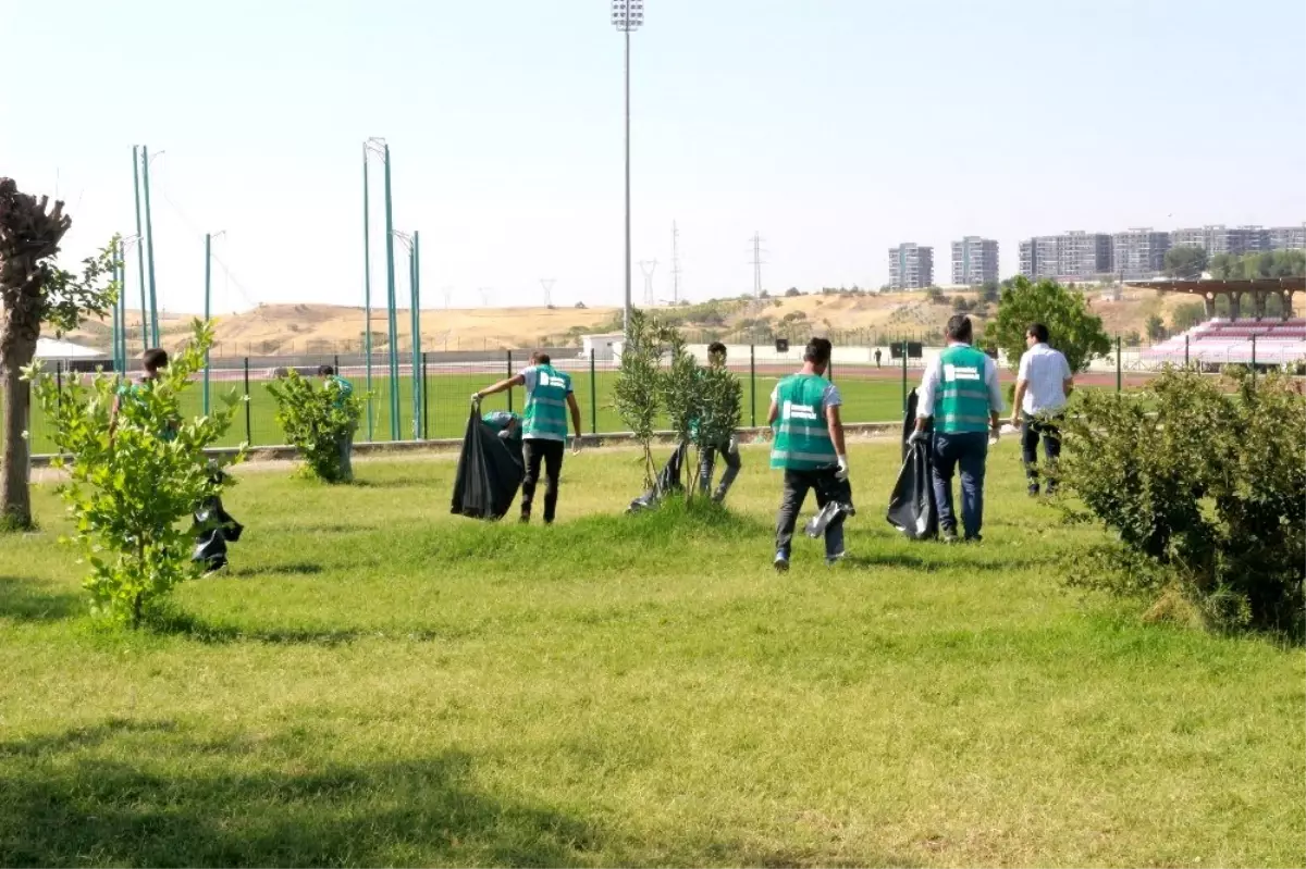
M 290 369 L 268 391 L 277 399 L 277 424 L 286 433 L 286 442 L 304 458 L 303 471 L 326 483 L 345 480 L 340 442 L 358 428 L 363 404 L 354 393 L 313 386 L 313 382 Z

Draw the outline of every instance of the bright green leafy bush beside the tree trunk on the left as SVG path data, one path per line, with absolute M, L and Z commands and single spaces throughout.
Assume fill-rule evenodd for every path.
M 191 561 L 189 519 L 195 508 L 230 483 L 204 454 L 231 425 L 239 399 L 221 397 L 223 407 L 209 416 L 182 418 L 180 395 L 204 368 L 213 343 L 210 328 L 193 324 L 193 341 L 153 384 L 120 401 L 116 377 L 97 373 L 64 381 L 38 365 L 26 371 L 47 419 L 55 421 L 55 444 L 64 458 L 55 467 L 68 472 L 59 495 L 76 519 L 72 543 L 81 547 L 91 574 L 85 586 L 93 608 L 138 626 L 149 604 L 193 578 L 202 566 Z M 244 459 L 242 449 L 231 462 Z

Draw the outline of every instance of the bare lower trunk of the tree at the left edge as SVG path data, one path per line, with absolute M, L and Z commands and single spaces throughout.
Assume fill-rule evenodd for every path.
M 0 531 L 22 531 L 33 526 L 31 495 L 27 488 L 27 408 L 31 406 L 31 384 L 22 380 L 22 369 L 37 354 L 34 334 L 16 322 L 10 312 L 0 333 L 0 385 L 4 386 L 4 451 L 0 457 Z

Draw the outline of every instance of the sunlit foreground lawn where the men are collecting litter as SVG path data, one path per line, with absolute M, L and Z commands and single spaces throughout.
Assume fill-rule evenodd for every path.
M 901 540 L 896 458 L 854 446 L 849 561 L 784 577 L 755 448 L 703 515 L 568 457 L 552 528 L 451 517 L 448 459 L 248 468 L 232 572 L 138 633 L 43 488 L 0 543 L 0 865 L 1299 866 L 1306 652 L 1063 591 L 1098 532 L 1010 441 L 983 545 Z

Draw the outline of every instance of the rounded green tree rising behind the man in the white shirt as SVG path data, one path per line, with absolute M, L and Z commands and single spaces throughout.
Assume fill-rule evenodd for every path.
M 1020 277 L 1004 287 L 985 339 L 1004 351 L 1015 369 L 1025 352 L 1025 330 L 1034 322 L 1047 326 L 1051 346 L 1066 355 L 1071 371 L 1085 371 L 1093 359 L 1111 351 L 1102 320 L 1089 312 L 1084 294 L 1049 278 L 1033 283 Z

